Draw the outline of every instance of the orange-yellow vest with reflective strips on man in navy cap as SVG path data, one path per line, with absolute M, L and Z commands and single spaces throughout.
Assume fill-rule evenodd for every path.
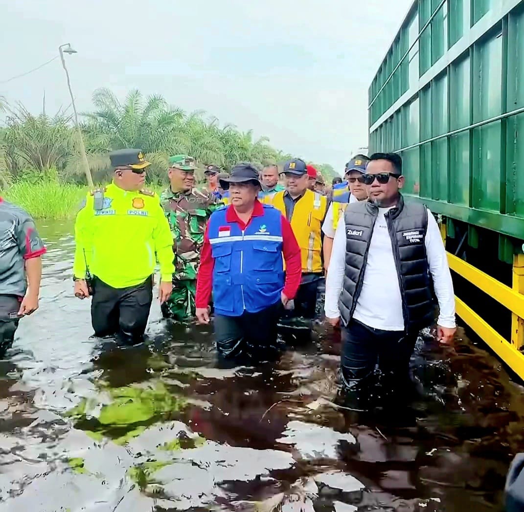
M 286 217 L 285 193 L 285 191 L 277 192 L 271 201 L 284 217 Z M 302 272 L 323 272 L 321 228 L 327 204 L 328 200 L 325 196 L 308 189 L 294 206 L 291 228 L 300 246 Z

